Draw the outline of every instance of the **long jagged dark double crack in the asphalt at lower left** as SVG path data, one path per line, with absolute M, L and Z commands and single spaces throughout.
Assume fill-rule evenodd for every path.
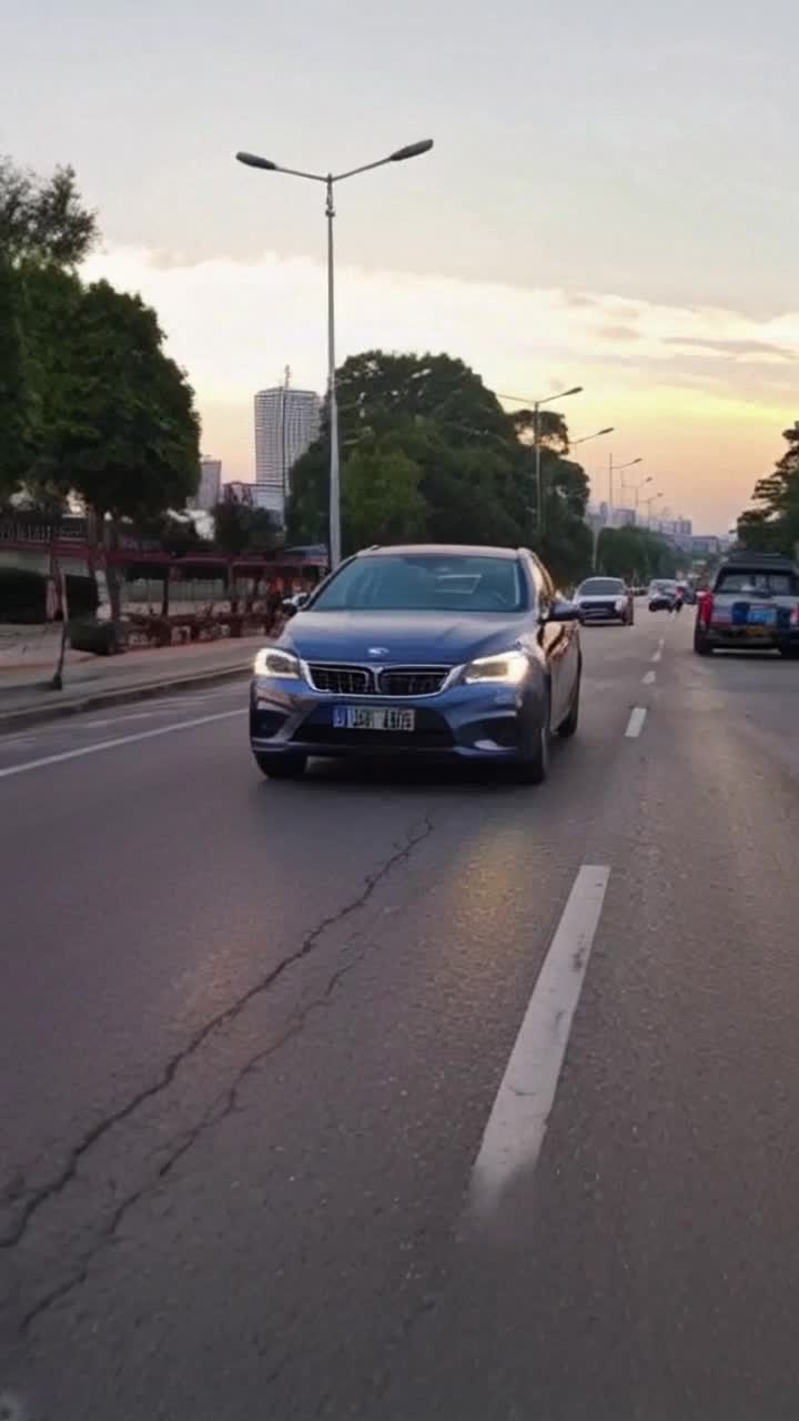
M 172 1084 L 181 1064 L 185 1060 L 188 1060 L 203 1044 L 205 1040 L 208 1040 L 212 1032 L 235 1020 L 256 996 L 269 990 L 269 988 L 272 988 L 274 982 L 280 976 L 283 976 L 283 973 L 289 968 L 300 962 L 303 958 L 309 956 L 309 953 L 311 953 L 314 948 L 318 945 L 320 938 L 330 928 L 338 925 L 340 922 L 351 917 L 354 912 L 358 912 L 361 908 L 364 908 L 371 895 L 374 894 L 375 888 L 381 884 L 381 881 L 400 863 L 407 861 L 414 853 L 414 850 L 434 833 L 434 828 L 435 828 L 434 823 L 428 816 L 425 816 L 425 818 L 421 821 L 421 827 L 415 833 L 411 833 L 402 845 L 395 848 L 395 851 L 378 868 L 375 868 L 371 874 L 367 875 L 361 892 L 355 898 L 353 898 L 348 904 L 344 904 L 344 907 L 340 908 L 337 912 L 330 914 L 327 918 L 323 918 L 323 921 L 317 924 L 317 926 L 313 928 L 311 932 L 309 932 L 303 938 L 303 942 L 296 949 L 296 952 L 291 952 L 286 958 L 283 958 L 277 963 L 277 966 L 272 969 L 272 972 L 269 972 L 264 978 L 262 978 L 252 988 L 249 988 L 247 992 L 245 992 L 240 998 L 236 999 L 236 1002 L 233 1002 L 230 1006 L 225 1007 L 222 1012 L 218 1012 L 213 1017 L 210 1017 L 210 1020 L 206 1022 L 192 1036 L 192 1039 L 186 1043 L 186 1046 L 183 1046 L 181 1052 L 175 1053 L 175 1056 L 171 1057 L 163 1071 L 161 1073 L 158 1081 L 155 1081 L 152 1086 L 148 1086 L 145 1090 L 138 1091 L 125 1106 L 114 1111 L 111 1115 L 107 1115 L 102 1121 L 94 1125 L 92 1130 L 87 1131 L 84 1138 L 70 1152 L 68 1160 L 61 1172 L 53 1181 L 50 1181 L 50 1184 L 43 1185 L 41 1189 L 38 1189 L 34 1195 L 31 1195 L 31 1199 L 26 1205 L 26 1209 L 23 1211 L 17 1228 L 13 1231 L 13 1233 L 9 1233 L 0 1239 L 0 1248 L 16 1246 L 24 1238 L 27 1228 L 34 1215 L 38 1212 L 38 1209 L 44 1204 L 47 1204 L 48 1199 L 55 1198 L 75 1178 L 78 1165 L 85 1152 L 94 1144 L 97 1144 L 97 1141 L 101 1140 L 109 1130 L 112 1130 L 114 1125 L 121 1124 L 124 1120 L 128 1120 L 131 1114 L 134 1114 L 134 1111 L 141 1104 L 166 1090 Z M 168 1160 L 165 1160 L 159 1165 L 156 1172 L 156 1179 L 165 1179 L 166 1175 L 178 1164 L 178 1161 L 186 1154 L 186 1151 L 191 1150 L 192 1145 L 200 1138 L 200 1135 L 205 1134 L 206 1130 L 220 1124 L 220 1121 L 225 1120 L 237 1107 L 239 1090 L 242 1083 L 247 1079 L 247 1076 L 250 1076 L 254 1070 L 257 1070 L 257 1067 L 269 1056 L 273 1056 L 289 1040 L 291 1040 L 303 1030 L 309 1016 L 313 1012 L 327 1005 L 338 983 L 343 980 L 344 976 L 347 976 L 348 972 L 351 972 L 363 961 L 365 952 L 367 948 L 364 948 L 360 953 L 357 953 L 357 956 L 354 956 L 350 962 L 345 962 L 343 966 L 340 966 L 328 979 L 324 992 L 313 1002 L 309 1002 L 307 1006 L 304 1006 L 300 1012 L 296 1012 L 290 1019 L 287 1029 L 267 1047 L 257 1052 L 245 1063 L 245 1066 L 240 1067 L 230 1087 L 225 1091 L 222 1097 L 218 1097 L 218 1100 L 205 1113 L 198 1125 L 195 1125 L 189 1131 L 183 1131 L 178 1148 L 168 1157 Z M 101 1236 L 97 1239 L 92 1248 L 88 1249 L 81 1258 L 77 1272 L 73 1273 L 71 1277 L 64 1279 L 61 1283 L 58 1283 L 54 1289 L 51 1289 L 50 1293 L 45 1293 L 43 1297 L 38 1299 L 37 1303 L 33 1304 L 33 1307 L 28 1309 L 28 1312 L 20 1320 L 18 1324 L 20 1334 L 27 1333 L 31 1324 L 37 1320 L 37 1317 L 40 1317 L 44 1312 L 47 1312 L 54 1303 L 60 1302 L 75 1287 L 81 1287 L 82 1283 L 87 1282 L 92 1259 L 114 1238 L 128 1211 L 132 1209 L 134 1205 L 138 1204 L 139 1199 L 146 1192 L 149 1192 L 151 1188 L 152 1188 L 152 1181 L 146 1181 L 139 1189 L 136 1189 L 134 1194 L 128 1195 L 125 1199 L 119 1202 L 119 1205 L 111 1215 L 111 1219 L 102 1229 Z

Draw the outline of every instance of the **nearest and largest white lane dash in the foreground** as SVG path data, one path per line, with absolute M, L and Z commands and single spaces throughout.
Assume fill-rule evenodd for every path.
M 546 1135 L 610 868 L 584 864 L 545 958 L 472 1169 L 469 1204 L 492 1211 L 513 1175 L 532 1169 Z

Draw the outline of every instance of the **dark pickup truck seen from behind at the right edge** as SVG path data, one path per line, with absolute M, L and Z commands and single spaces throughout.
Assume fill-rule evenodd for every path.
M 799 568 L 772 553 L 731 553 L 701 593 L 694 651 L 775 649 L 799 657 Z

